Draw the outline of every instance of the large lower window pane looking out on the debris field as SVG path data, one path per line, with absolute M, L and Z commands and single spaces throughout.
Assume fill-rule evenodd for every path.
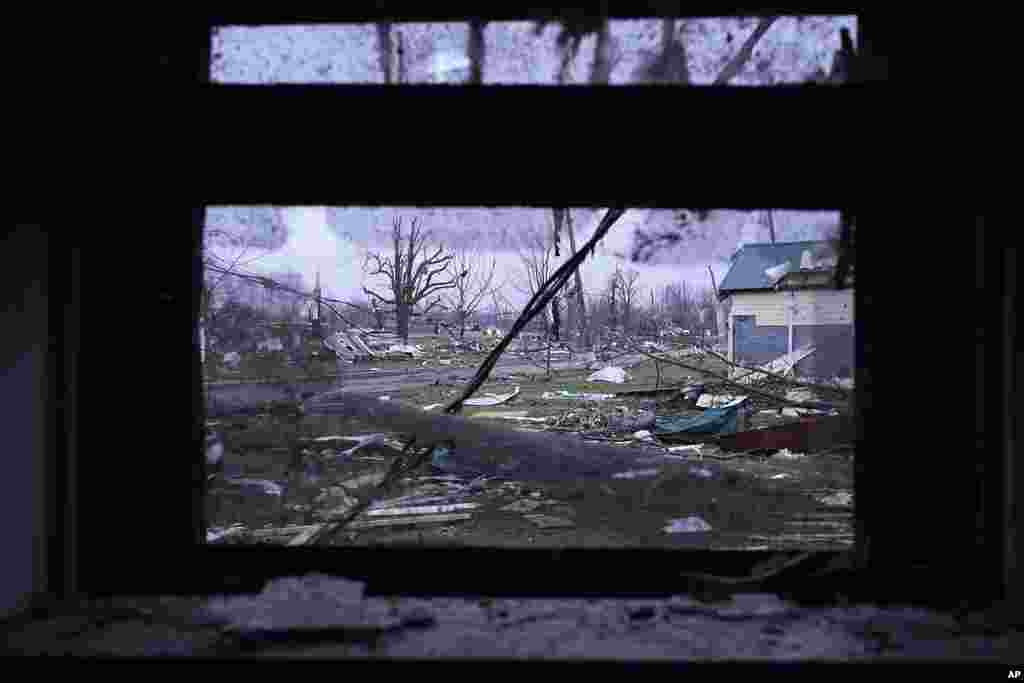
M 781 210 L 210 207 L 208 541 L 849 548 L 839 226 Z M 437 429 L 458 400 L 482 436 Z

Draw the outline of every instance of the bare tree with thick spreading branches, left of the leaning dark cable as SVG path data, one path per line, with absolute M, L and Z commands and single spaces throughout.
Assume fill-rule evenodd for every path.
M 429 313 L 441 304 L 441 298 L 436 295 L 433 300 L 427 298 L 436 292 L 453 289 L 456 284 L 452 280 L 434 278 L 447 272 L 452 254 L 444 254 L 444 246 L 437 248 L 428 255 L 430 232 L 424 231 L 414 218 L 409 234 L 401 231 L 401 218 L 395 218 L 391 225 L 390 256 L 370 253 L 368 264 L 372 265 L 370 275 L 384 275 L 387 279 L 387 294 L 362 288 L 378 305 L 393 306 L 397 325 L 397 333 L 402 343 L 409 343 L 409 319 L 417 306 L 422 307 L 421 313 Z

